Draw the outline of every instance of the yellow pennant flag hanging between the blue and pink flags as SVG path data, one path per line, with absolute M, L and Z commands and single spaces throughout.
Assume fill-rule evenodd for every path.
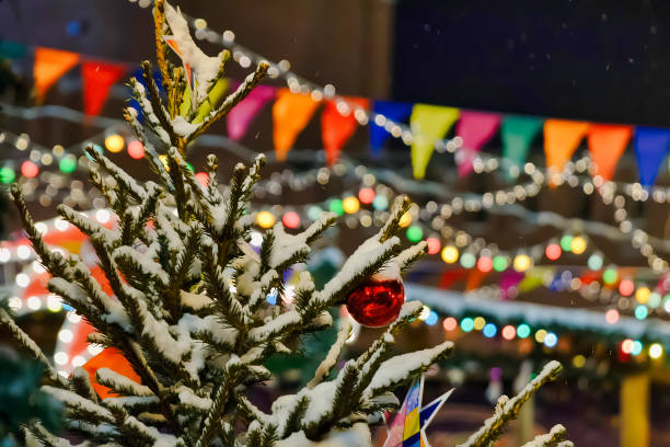
M 435 140 L 444 137 L 459 118 L 459 110 L 439 105 L 415 104 L 409 125 L 414 134 L 412 144 L 412 168 L 416 179 L 426 175 L 426 168 L 432 156 Z

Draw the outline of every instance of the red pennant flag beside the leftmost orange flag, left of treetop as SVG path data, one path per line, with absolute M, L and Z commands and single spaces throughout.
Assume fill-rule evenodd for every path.
M 84 61 L 81 65 L 84 113 L 95 116 L 102 111 L 109 89 L 126 73 L 126 67 L 118 64 Z

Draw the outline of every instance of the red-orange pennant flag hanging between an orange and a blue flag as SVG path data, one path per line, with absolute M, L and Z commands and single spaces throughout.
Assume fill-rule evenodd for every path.
M 354 117 L 356 107 L 363 110 L 369 107 L 369 101 L 362 98 L 346 98 L 346 102 L 326 101 L 325 108 L 321 114 L 321 138 L 326 152 L 327 164 L 333 164 L 339 158 L 342 147 L 358 127 Z M 345 104 L 346 110 L 339 111 L 338 107 Z

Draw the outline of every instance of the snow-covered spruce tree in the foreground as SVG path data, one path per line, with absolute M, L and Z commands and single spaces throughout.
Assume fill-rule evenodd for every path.
M 293 303 L 270 306 L 266 297 L 282 293 L 286 270 L 307 260 L 311 244 L 336 216 L 324 213 L 298 234 L 277 224 L 265 232 L 259 253 L 252 250 L 254 215 L 247 205 L 264 158 L 249 167 L 235 165 L 229 185 L 222 187 L 218 160 L 209 156 L 208 182 L 201 186 L 187 167 L 187 148 L 244 99 L 269 66 L 258 64 L 233 93 L 221 98 L 219 82 L 229 51 L 206 56 L 180 11 L 165 1 L 155 1 L 153 18 L 163 89 L 152 77 L 152 65 L 143 62 L 143 82 L 130 80 L 143 124 L 134 108 L 126 108 L 124 116 L 145 145 L 157 181 L 140 182 L 88 148 L 93 160 L 90 181 L 106 198 L 117 226 L 107 229 L 66 205 L 58 208 L 90 238 L 113 296 L 103 291 L 78 256 L 49 250 L 19 186 L 11 188 L 27 238 L 53 275 L 48 289 L 96 329 L 91 343 L 118 349 L 141 380 L 99 369 L 95 380 L 115 393 L 102 399 L 82 368 L 70 378 L 57 374 L 2 309 L 0 328 L 43 364 L 42 390 L 62 402 L 68 433 L 86 439 L 81 445 L 288 447 L 324 439 L 370 445 L 368 426 L 380 423 L 384 411 L 398 408 L 392 391 L 446 358 L 453 347 L 444 342 L 391 357 L 394 335 L 421 311 L 418 301 L 404 303 L 383 334 L 328 380 L 351 329 L 342 322 L 337 341 L 313 378 L 294 394 L 278 398 L 269 413 L 258 409 L 246 390 L 270 379 L 265 367 L 270 356 L 291 353 L 299 335 L 331 326 L 330 310 L 362 282 L 380 271 L 403 271 L 424 254 L 425 242 L 402 250 L 394 236 L 408 199 L 394 203 L 385 226 L 323 288 L 317 290 L 304 271 Z M 174 61 L 170 46 L 178 48 L 182 64 Z M 559 368 L 556 363 L 547 365 L 518 397 L 501 398 L 495 415 L 464 445 L 492 445 L 520 405 Z M 39 419 L 26 423 L 25 431 L 47 446 L 72 445 L 68 435 L 51 434 Z M 536 445 L 554 445 L 564 434 L 556 427 L 545 435 L 546 443 L 539 439 Z

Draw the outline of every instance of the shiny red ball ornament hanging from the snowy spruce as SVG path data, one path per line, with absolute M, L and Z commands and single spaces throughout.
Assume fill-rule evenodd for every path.
M 384 326 L 397 318 L 405 302 L 405 288 L 397 279 L 369 280 L 347 297 L 347 310 L 358 323 Z

